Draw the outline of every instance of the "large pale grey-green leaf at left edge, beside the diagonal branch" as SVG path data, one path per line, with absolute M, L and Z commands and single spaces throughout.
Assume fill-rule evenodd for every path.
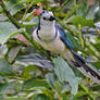
M 9 22 L 0 22 L 0 43 L 7 42 L 13 32 L 16 30 L 16 27 Z

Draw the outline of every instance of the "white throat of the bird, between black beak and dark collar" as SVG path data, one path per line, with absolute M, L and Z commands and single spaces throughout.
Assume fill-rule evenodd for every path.
M 38 30 L 38 36 L 41 40 L 51 40 L 55 37 L 55 22 L 48 22 L 47 24 L 40 23 L 40 30 Z

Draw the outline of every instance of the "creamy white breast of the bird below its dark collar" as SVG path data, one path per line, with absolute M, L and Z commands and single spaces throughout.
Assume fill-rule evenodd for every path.
M 37 29 L 33 32 L 34 40 L 39 43 L 43 49 L 49 50 L 54 53 L 62 53 L 65 51 L 65 45 L 60 39 L 60 34 L 58 33 L 58 37 L 52 41 L 41 41 L 37 36 Z

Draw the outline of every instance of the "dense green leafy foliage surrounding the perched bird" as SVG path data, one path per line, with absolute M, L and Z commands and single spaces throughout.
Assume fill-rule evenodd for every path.
M 100 85 L 91 85 L 62 58 L 50 57 L 30 37 L 38 23 L 33 7 L 41 2 L 70 33 L 75 51 L 100 68 L 100 2 L 88 1 L 0 1 L 0 100 L 99 100 Z

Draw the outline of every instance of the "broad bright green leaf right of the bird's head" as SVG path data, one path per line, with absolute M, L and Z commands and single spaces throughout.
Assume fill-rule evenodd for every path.
M 84 26 L 89 26 L 89 27 L 95 27 L 93 21 L 92 20 L 86 20 L 80 15 L 76 15 L 71 17 L 67 23 L 74 24 L 76 27 L 80 25 L 82 27 Z

